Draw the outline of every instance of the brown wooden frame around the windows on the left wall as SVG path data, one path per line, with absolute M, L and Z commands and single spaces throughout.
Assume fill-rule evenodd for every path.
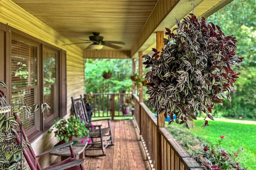
M 58 70 L 58 78 L 56 77 L 56 81 L 58 81 L 57 84 L 57 99 L 59 101 L 58 104 L 58 109 L 57 111 L 54 112 L 54 118 L 55 117 L 63 117 L 67 114 L 67 109 L 66 109 L 66 102 L 67 102 L 67 95 L 66 95 L 66 51 L 55 47 L 53 45 L 50 45 L 38 38 L 35 38 L 31 35 L 28 35 L 27 33 L 24 33 L 18 29 L 15 29 L 9 25 L 6 25 L 4 23 L 0 23 L 0 33 L 1 33 L 1 38 L 0 39 L 0 51 L 5 51 L 3 53 L 0 53 L 0 59 L 1 59 L 1 66 L 4 68 L 3 74 L 0 76 L 1 80 L 5 81 L 7 86 L 9 87 L 9 90 L 6 92 L 6 98 L 8 102 L 11 102 L 11 94 L 12 94 L 12 78 L 11 78 L 11 54 L 12 54 L 12 49 L 11 49 L 11 43 L 12 39 L 18 37 L 17 40 L 25 40 L 25 41 L 31 41 L 39 45 L 39 48 L 37 49 L 38 53 L 38 93 L 35 94 L 36 96 L 36 104 L 40 104 L 43 101 L 43 80 L 42 80 L 42 54 L 43 54 L 43 49 L 48 48 L 48 49 L 54 49 L 58 51 L 58 63 L 56 63 L 56 69 Z M 2 70 L 2 69 L 1 69 Z M 38 114 L 40 115 L 40 114 Z M 36 139 L 39 135 L 42 133 L 46 132 L 53 124 L 54 124 L 54 118 L 52 117 L 51 119 L 43 120 L 43 116 L 38 116 L 35 119 L 36 123 L 36 129 L 28 129 L 26 131 L 28 135 L 28 138 L 30 141 L 33 141 Z

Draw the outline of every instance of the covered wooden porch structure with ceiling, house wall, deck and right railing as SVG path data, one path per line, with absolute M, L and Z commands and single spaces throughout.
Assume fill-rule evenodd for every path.
M 191 5 L 192 2 L 194 4 Z M 8 102 L 14 100 L 18 91 L 13 84 L 20 81 L 13 75 L 16 67 L 12 65 L 12 57 L 18 51 L 15 51 L 15 43 L 32 46 L 30 49 L 34 50 L 36 66 L 30 67 L 29 71 L 37 70 L 33 87 L 28 84 L 20 87 L 20 91 L 33 88 L 33 104 L 48 100 L 44 98 L 44 86 L 55 90 L 51 91 L 53 99 L 48 100 L 52 102 L 54 111 L 48 117 L 31 117 L 35 122 L 26 129 L 36 154 L 57 142 L 54 135 L 47 134 L 54 118 L 70 117 L 70 98 L 84 94 L 85 58 L 131 59 L 131 69 L 138 59 L 139 74 L 142 75 L 142 55 L 149 54 L 152 48 L 161 50 L 164 27 L 174 27 L 175 18 L 182 20 L 193 10 L 196 16 L 207 17 L 230 2 L 232 0 L 0 0 L 0 80 L 9 87 L 5 93 Z M 90 44 L 84 44 L 81 39 L 88 39 L 95 31 L 99 31 L 104 40 L 123 41 L 126 45 L 121 44 L 122 49 L 113 49 L 114 46 L 109 45 L 97 51 L 85 50 Z M 81 43 L 64 45 L 78 42 Z M 58 59 L 55 84 L 44 84 L 43 78 L 47 74 L 43 67 L 44 52 L 53 53 Z M 115 145 L 106 150 L 108 155 L 86 158 L 86 169 L 200 169 L 164 128 L 164 117 L 157 119 L 152 115 L 143 103 L 142 95 L 133 95 L 134 120 L 112 121 Z M 115 117 L 111 113 L 109 116 Z M 52 159 L 44 156 L 39 162 L 45 167 L 52 163 Z

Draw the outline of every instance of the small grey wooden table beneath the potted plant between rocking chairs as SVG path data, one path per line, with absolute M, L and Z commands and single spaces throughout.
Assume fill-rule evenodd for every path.
M 75 153 L 75 156 L 77 159 L 84 159 L 85 158 L 85 148 L 87 146 L 87 141 L 85 141 L 84 143 L 81 143 L 81 141 L 84 138 L 77 138 L 77 137 L 73 137 L 72 141 L 77 141 L 77 143 L 74 144 L 73 146 L 73 150 Z M 70 150 L 68 147 L 65 148 L 61 148 L 58 150 L 55 150 L 53 152 L 50 153 L 51 155 L 56 155 L 56 156 L 61 156 L 61 160 L 65 160 L 66 158 L 70 157 Z

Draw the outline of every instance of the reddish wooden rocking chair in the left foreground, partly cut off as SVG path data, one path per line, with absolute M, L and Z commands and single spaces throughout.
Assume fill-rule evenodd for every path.
M 21 124 L 20 119 L 18 118 L 16 113 L 14 113 L 14 117 L 16 118 L 16 121 L 19 124 Z M 20 129 L 20 126 L 15 126 L 14 129 L 18 132 L 17 134 L 14 134 L 16 136 L 15 139 L 19 145 L 24 146 L 22 149 L 23 155 L 31 170 L 85 170 L 83 166 L 84 159 L 77 160 L 75 157 L 74 150 L 72 147 L 72 143 L 73 143 L 72 141 L 68 143 L 64 143 L 62 145 L 58 145 L 36 156 L 34 153 L 34 150 L 32 149 L 31 145 L 28 142 L 24 129 L 23 128 Z M 70 158 L 66 158 L 62 162 L 58 164 L 54 164 L 47 168 L 41 168 L 37 160 L 38 157 L 48 154 L 54 150 L 58 150 L 60 148 L 68 147 L 68 146 L 70 147 L 70 152 L 71 152 Z

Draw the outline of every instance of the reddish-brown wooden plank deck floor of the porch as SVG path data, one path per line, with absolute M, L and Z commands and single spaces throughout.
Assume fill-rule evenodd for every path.
M 111 131 L 114 138 L 114 146 L 106 149 L 106 156 L 97 158 L 85 157 L 85 169 L 146 170 L 133 120 L 111 121 Z M 100 151 L 93 150 L 93 152 Z

